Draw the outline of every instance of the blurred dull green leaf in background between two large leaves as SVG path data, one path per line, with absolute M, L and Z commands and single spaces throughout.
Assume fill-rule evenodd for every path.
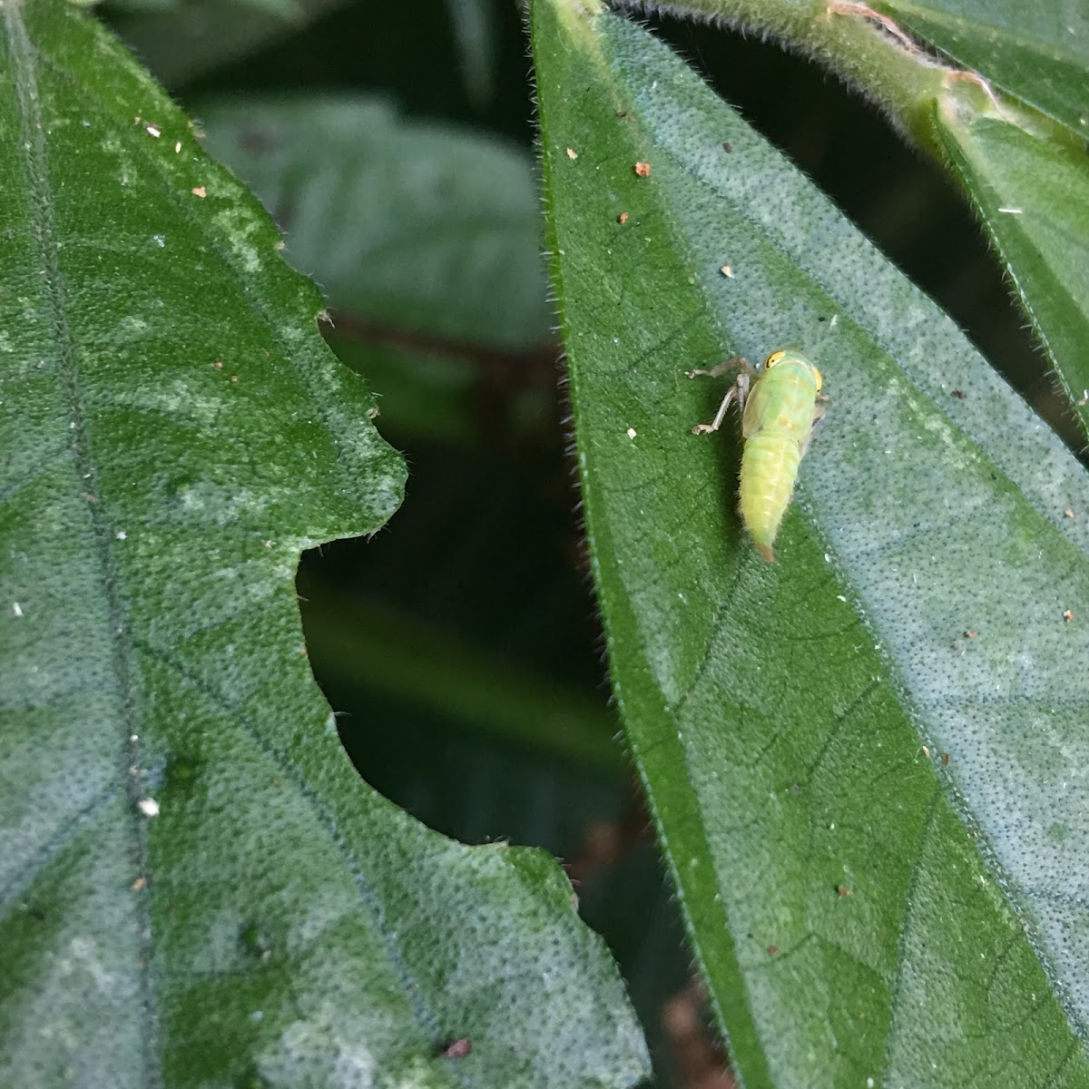
M 289 259 L 334 309 L 506 350 L 548 339 L 521 150 L 362 96 L 245 97 L 201 119 L 208 149 L 279 219 Z

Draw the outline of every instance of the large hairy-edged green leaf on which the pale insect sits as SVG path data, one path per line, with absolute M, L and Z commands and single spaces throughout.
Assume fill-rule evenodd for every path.
M 669 50 L 533 37 L 612 677 L 744 1084 L 1089 1085 L 1084 470 Z M 790 346 L 831 401 L 767 565 L 685 372 Z

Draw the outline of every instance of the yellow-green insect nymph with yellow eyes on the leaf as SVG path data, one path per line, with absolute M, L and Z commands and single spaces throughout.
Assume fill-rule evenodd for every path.
M 745 440 L 737 488 L 742 521 L 760 555 L 774 563 L 772 544 L 794 492 L 798 465 L 824 415 L 823 380 L 820 371 L 793 348 L 772 352 L 759 369 L 746 359 L 729 359 L 710 370 L 692 370 L 688 377 L 719 376 L 735 367 L 742 368 L 741 374 L 726 391 L 714 419 L 697 424 L 692 430 L 694 435 L 717 431 L 731 402 L 737 401 Z

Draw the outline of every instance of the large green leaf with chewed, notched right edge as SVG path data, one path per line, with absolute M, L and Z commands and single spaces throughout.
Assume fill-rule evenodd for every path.
M 631 1085 L 559 868 L 368 788 L 314 684 L 299 553 L 404 478 L 317 291 L 94 19 L 5 4 L 0 72 L 0 1085 Z

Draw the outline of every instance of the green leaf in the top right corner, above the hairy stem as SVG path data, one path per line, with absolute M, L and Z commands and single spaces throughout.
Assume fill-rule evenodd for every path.
M 878 0 L 959 65 L 1089 137 L 1089 10 L 1042 0 Z

